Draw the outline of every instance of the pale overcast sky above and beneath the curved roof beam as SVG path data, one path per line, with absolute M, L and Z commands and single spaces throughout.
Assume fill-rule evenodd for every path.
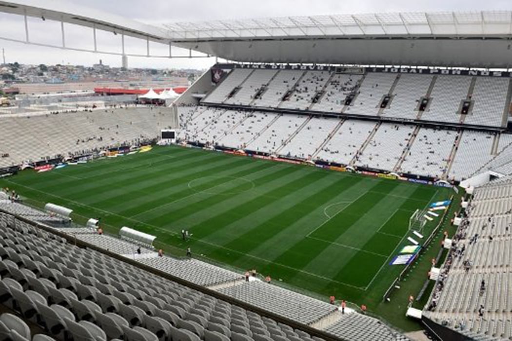
M 52 1 L 52 0 L 47 0 Z M 162 24 L 173 21 L 201 21 L 215 19 L 243 19 L 270 16 L 322 15 L 322 14 L 358 14 L 381 12 L 415 11 L 479 11 L 510 10 L 511 0 L 66 0 L 81 6 L 115 13 L 127 18 L 140 20 L 147 24 Z M 30 39 L 36 42 L 59 44 L 60 24 L 29 20 Z M 23 20 L 19 16 L 0 13 L 0 36 L 24 39 Z M 112 33 L 98 33 L 98 49 L 120 51 L 120 37 Z M 90 29 L 66 27 L 68 46 L 84 48 L 92 46 Z M 127 52 L 145 53 L 145 42 L 125 39 Z M 29 46 L 23 43 L 0 40 L 0 48 L 5 48 L 6 61 L 19 63 L 65 63 L 92 65 L 99 59 L 112 66 L 120 66 L 120 56 L 94 53 L 73 52 L 52 48 Z M 166 47 L 152 46 L 158 54 L 167 53 Z M 161 52 L 161 53 L 159 53 Z M 174 52 L 173 52 L 174 53 Z M 176 51 L 176 53 L 180 53 Z M 181 53 L 183 53 L 181 51 Z M 205 59 L 168 59 L 168 58 L 129 58 L 130 67 L 206 69 L 215 60 Z

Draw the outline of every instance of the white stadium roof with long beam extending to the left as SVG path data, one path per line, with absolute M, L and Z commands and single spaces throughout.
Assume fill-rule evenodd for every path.
M 161 27 L 61 0 L 0 1 L 0 11 L 113 31 L 239 62 L 512 66 L 512 11 L 291 16 Z M 14 40 L 2 33 L 0 38 Z M 147 52 L 149 56 L 149 47 Z

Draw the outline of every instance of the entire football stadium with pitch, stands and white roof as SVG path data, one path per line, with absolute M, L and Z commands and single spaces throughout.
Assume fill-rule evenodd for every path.
M 512 12 L 0 12 L 219 59 L 0 107 L 0 339 L 512 339 Z

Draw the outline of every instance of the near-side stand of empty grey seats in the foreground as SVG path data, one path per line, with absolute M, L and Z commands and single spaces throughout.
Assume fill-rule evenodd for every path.
M 2 209 L 19 212 L 18 205 L 6 203 Z M 25 212 L 21 214 L 25 215 L 23 219 L 33 216 Z M 40 215 L 45 214 L 40 212 Z M 43 231 L 12 215 L 0 213 L 0 299 L 27 323 L 38 325 L 38 329 L 56 339 L 70 336 L 97 340 L 322 339 L 146 272 L 126 263 L 123 258 L 110 256 L 135 257 L 125 254 L 125 246 L 130 244 L 127 241 L 91 234 L 91 230 L 85 228 L 46 227 L 50 230 Z M 85 243 L 81 247 L 75 246 L 51 231 L 70 235 L 72 239 L 69 240 L 75 240 L 75 243 L 76 239 Z M 136 244 L 127 246 L 132 250 L 135 247 Z M 145 248 L 136 256 L 144 255 L 146 257 L 135 257 L 135 262 L 145 268 L 216 288 L 219 293 L 239 302 L 302 325 L 322 326 L 332 337 L 407 339 L 373 317 L 351 309 L 341 314 L 336 306 L 257 279 L 245 282 L 236 272 L 200 260 L 159 257 Z M 14 329 L 25 335 L 20 340 L 30 340 L 27 323 L 14 320 L 9 323 L 15 324 L 16 328 L 3 329 L 0 324 L 0 333 L 12 337 Z M 4 319 L 0 318 L 0 321 L 4 322 Z M 365 331 L 364 325 L 371 325 L 371 330 Z

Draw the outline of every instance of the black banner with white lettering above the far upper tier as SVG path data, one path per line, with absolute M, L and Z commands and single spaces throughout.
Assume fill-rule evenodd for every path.
M 226 64 L 218 64 L 212 67 L 215 69 L 226 69 Z M 221 69 L 222 67 L 222 69 Z M 455 70 L 455 69 L 418 69 L 412 67 L 345 67 L 336 65 L 303 65 L 303 64 L 232 64 L 234 69 L 273 69 L 273 70 L 310 70 L 310 71 L 336 71 L 340 73 L 364 73 L 380 72 L 392 74 L 419 74 L 419 75 L 459 75 L 459 76 L 482 76 L 482 77 L 507 77 L 512 78 L 512 72 L 486 71 L 486 70 Z

